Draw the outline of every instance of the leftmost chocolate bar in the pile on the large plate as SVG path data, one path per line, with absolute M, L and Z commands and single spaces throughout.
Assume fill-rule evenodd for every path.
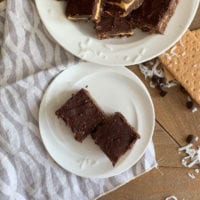
M 70 20 L 98 21 L 103 0 L 68 0 L 66 16 Z

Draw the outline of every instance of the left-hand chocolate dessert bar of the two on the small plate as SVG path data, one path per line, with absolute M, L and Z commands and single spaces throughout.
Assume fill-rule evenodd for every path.
M 58 118 L 71 128 L 77 141 L 82 142 L 88 134 L 102 123 L 104 115 L 89 92 L 81 89 L 56 111 Z

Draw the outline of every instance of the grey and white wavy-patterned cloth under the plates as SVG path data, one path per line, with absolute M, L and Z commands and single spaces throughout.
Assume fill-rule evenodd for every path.
M 59 167 L 42 144 L 38 110 L 52 78 L 78 59 L 48 36 L 30 0 L 0 9 L 0 46 L 0 200 L 95 199 L 157 165 L 151 142 L 115 177 L 86 179 Z

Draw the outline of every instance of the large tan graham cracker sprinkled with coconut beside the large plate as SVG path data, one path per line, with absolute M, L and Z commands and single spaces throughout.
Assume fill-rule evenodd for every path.
M 191 97 L 200 104 L 200 41 L 191 31 L 165 54 L 161 63 L 172 73 Z

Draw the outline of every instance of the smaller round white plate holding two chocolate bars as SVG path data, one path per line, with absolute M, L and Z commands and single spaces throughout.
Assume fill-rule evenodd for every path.
M 72 93 L 85 86 L 106 113 L 123 113 L 141 135 L 115 167 L 91 136 L 77 142 L 55 116 Z M 125 171 L 141 158 L 153 134 L 154 117 L 150 95 L 134 73 L 124 67 L 80 63 L 63 71 L 48 87 L 40 106 L 39 125 L 43 143 L 59 165 L 82 177 L 104 178 Z

